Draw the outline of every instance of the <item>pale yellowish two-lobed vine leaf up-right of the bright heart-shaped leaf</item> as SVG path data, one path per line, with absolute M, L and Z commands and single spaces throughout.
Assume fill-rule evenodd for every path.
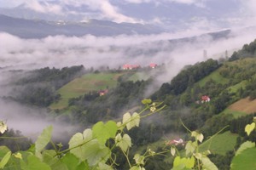
M 132 116 L 129 112 L 125 113 L 123 124 L 126 124 L 127 130 L 130 130 L 132 127 L 138 127 L 140 124 L 140 115 L 137 112 L 134 112 Z

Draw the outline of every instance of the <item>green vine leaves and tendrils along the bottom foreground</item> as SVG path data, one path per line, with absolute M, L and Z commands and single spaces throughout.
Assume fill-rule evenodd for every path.
M 126 158 L 130 170 L 145 169 L 146 161 L 150 156 L 159 156 L 166 151 L 157 153 L 154 150 L 147 149 L 143 155 L 135 154 L 131 160 L 129 150 L 131 150 L 131 137 L 129 132 L 133 127 L 139 127 L 141 118 L 150 116 L 157 111 L 164 109 L 165 105 L 161 103 L 152 103 L 151 99 L 143 99 L 145 108 L 143 111 L 133 114 L 127 112 L 121 122 L 108 121 L 97 122 L 93 127 L 87 128 L 83 133 L 75 133 L 69 140 L 69 148 L 61 150 L 61 144 L 54 144 L 51 141 L 53 127 L 49 126 L 38 136 L 35 144 L 32 144 L 29 150 L 12 153 L 6 146 L 0 146 L 0 169 L 99 169 L 111 170 L 119 167 L 117 162 L 117 153 L 114 150 L 119 149 Z M 185 125 L 183 124 L 183 127 Z M 7 125 L 0 122 L 0 133 L 7 130 Z M 191 140 L 179 143 L 169 142 L 166 144 L 168 152 L 174 156 L 172 170 L 181 169 L 218 169 L 216 165 L 208 158 L 210 150 L 200 151 L 199 145 L 204 136 L 202 133 L 190 131 L 185 127 Z M 226 127 L 224 127 L 226 128 Z M 224 129 L 223 128 L 223 129 Z M 223 131 L 220 130 L 218 133 Z M 255 129 L 255 122 L 245 127 L 245 132 L 249 135 Z M 217 135 L 216 133 L 215 135 Z M 214 138 L 213 135 L 210 139 Z M 54 150 L 47 149 L 48 144 L 52 144 Z M 184 152 L 179 153 L 177 144 L 184 145 Z M 248 153 L 255 155 L 255 144 L 245 142 L 236 152 L 231 168 L 239 169 L 240 160 L 244 160 Z M 249 158 L 253 156 L 249 155 Z M 245 159 L 250 166 L 250 159 Z

